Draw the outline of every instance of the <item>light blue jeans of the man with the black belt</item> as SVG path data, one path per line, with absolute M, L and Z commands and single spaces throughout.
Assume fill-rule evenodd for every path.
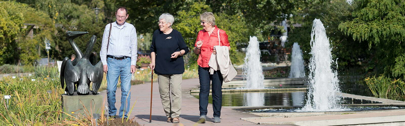
M 115 108 L 115 91 L 117 90 L 118 77 L 121 78 L 121 107 L 119 107 L 119 117 L 125 109 L 124 117 L 128 117 L 130 108 L 131 93 L 131 58 L 126 59 L 113 59 L 107 58 L 107 102 L 109 107 L 109 115 L 116 115 L 117 108 Z M 128 102 L 127 102 L 128 101 Z

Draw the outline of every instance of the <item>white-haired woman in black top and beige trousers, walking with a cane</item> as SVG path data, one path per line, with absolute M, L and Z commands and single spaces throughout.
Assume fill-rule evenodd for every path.
M 179 123 L 181 81 L 184 73 L 183 55 L 189 50 L 181 33 L 172 28 L 173 22 L 173 15 L 168 13 L 160 15 L 159 29 L 152 37 L 149 67 L 158 74 L 160 99 L 167 122 Z

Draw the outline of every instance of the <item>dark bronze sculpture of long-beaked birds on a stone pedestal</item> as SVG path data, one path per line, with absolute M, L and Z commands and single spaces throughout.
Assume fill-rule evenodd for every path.
M 88 33 L 89 32 L 85 31 L 66 32 L 70 46 L 72 46 L 76 53 L 76 59 L 73 61 L 65 57 L 60 69 L 60 83 L 62 88 L 64 88 L 64 82 L 66 83 L 65 91 L 68 95 L 97 94 L 98 88 L 100 88 L 102 82 L 102 62 L 99 61 L 97 63 L 97 53 L 91 52 L 96 42 L 96 36 L 93 35 L 90 41 L 87 42 L 84 55 L 75 41 L 73 41 L 75 38 Z M 93 90 L 90 90 L 90 82 L 93 82 Z

